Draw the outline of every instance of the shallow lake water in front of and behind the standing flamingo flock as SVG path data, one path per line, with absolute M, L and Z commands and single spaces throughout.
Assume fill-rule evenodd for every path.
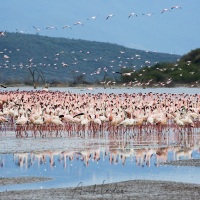
M 7 88 L 15 90 L 18 88 Z M 3 91 L 5 89 L 1 89 Z M 32 90 L 30 87 L 19 90 Z M 74 93 L 188 93 L 200 88 L 50 88 Z M 9 135 L 10 134 L 10 135 Z M 6 138 L 6 139 L 5 139 Z M 51 143 L 51 145 L 49 145 Z M 14 132 L 1 136 L 0 152 L 16 147 L 19 153 L 0 154 L 0 177 L 50 177 L 52 181 L 0 186 L 0 191 L 76 187 L 125 180 L 164 180 L 200 184 L 200 168 L 162 165 L 177 159 L 200 159 L 200 133 L 166 130 L 141 136 L 109 135 L 78 138 L 17 139 Z M 48 144 L 48 145 L 47 145 Z M 20 151 L 20 149 L 22 151 Z M 27 149 L 27 151 L 25 151 Z M 35 152 L 34 149 L 37 151 Z M 23 153 L 25 151 L 25 153 Z M 10 152 L 10 151 L 9 151 Z M 12 151 L 11 151 L 12 152 Z

